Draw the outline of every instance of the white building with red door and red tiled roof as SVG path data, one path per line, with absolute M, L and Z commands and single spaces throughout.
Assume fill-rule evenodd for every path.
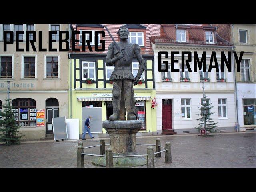
M 202 102 L 202 80 L 205 84 L 207 95 L 206 102 L 214 106 L 210 112 L 215 112 L 210 118 L 218 122 L 221 132 L 235 131 L 236 102 L 234 87 L 234 58 L 232 57 L 232 72 L 228 72 L 224 65 L 224 72 L 216 72 L 213 68 L 208 72 L 212 52 L 216 52 L 216 60 L 220 69 L 220 56 L 224 52 L 228 57 L 228 51 L 233 50 L 232 44 L 220 37 L 216 27 L 211 24 L 156 24 L 154 25 L 156 36 L 151 36 L 154 50 L 155 82 L 156 82 L 156 108 L 157 132 L 163 134 L 187 134 L 198 133 L 195 127 L 200 114 Z M 162 55 L 162 61 L 168 61 L 168 72 L 158 72 L 158 52 L 167 51 L 168 58 Z M 174 55 L 175 69 L 180 72 L 171 72 L 171 52 L 179 52 Z M 182 72 L 181 52 L 192 52 L 192 61 L 188 71 Z M 194 72 L 194 52 L 198 58 L 206 52 L 206 72 L 199 70 Z M 185 60 L 188 55 L 185 55 Z M 215 63 L 215 62 L 214 62 Z M 213 64 L 214 64 L 213 63 Z M 165 65 L 162 62 L 162 68 Z

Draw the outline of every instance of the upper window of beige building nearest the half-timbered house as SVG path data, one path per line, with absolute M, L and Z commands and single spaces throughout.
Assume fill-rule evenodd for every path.
M 58 78 L 58 57 L 46 57 L 46 78 Z

